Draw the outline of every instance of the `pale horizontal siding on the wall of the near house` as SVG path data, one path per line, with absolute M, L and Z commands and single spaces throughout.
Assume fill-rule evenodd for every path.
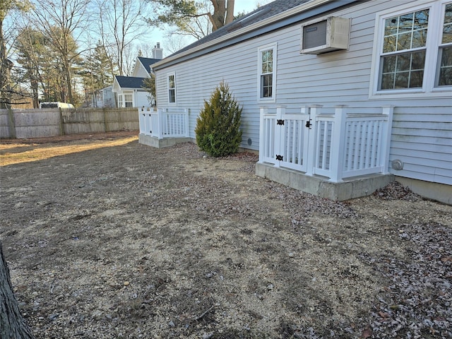
M 444 4 L 440 0 L 434 2 Z M 299 113 L 305 105 L 323 105 L 322 112 L 333 112 L 335 105 L 347 105 L 347 112 L 372 114 L 381 112 L 383 105 L 393 105 L 395 127 L 390 160 L 400 159 L 405 165 L 403 170 L 390 168 L 390 172 L 412 179 L 452 184 L 451 89 L 436 88 L 434 95 L 416 93 L 412 97 L 375 95 L 369 98 L 369 89 L 374 84 L 372 58 L 376 40 L 376 13 L 386 11 L 389 17 L 391 12 L 388 8 L 395 3 L 397 6 L 403 3 L 406 8 L 415 8 L 426 1 L 364 1 L 328 13 L 328 16 L 352 19 L 350 49 L 347 51 L 318 56 L 300 54 L 299 23 L 157 70 L 157 105 L 168 105 L 167 74 L 176 73 L 177 107 L 189 109 L 190 136 L 195 138 L 196 118 L 204 100 L 209 100 L 215 87 L 225 81 L 243 106 L 241 147 L 252 150 L 258 150 L 261 106 L 268 107 L 269 112 L 275 112 L 276 107 L 283 105 L 287 113 Z M 439 33 L 437 36 L 439 39 Z M 257 51 L 261 47 L 276 44 L 278 58 L 275 69 L 278 74 L 273 88 L 275 100 L 266 102 L 259 100 Z M 436 44 L 438 48 L 439 44 Z M 379 54 L 378 47 L 375 51 Z M 432 62 L 436 64 L 436 59 Z M 432 83 L 434 77 L 433 73 Z

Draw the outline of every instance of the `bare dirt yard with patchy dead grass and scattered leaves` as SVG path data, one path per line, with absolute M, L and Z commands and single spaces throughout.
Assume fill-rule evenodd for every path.
M 136 133 L 0 142 L 0 237 L 36 338 L 452 338 L 452 206 L 345 203 Z

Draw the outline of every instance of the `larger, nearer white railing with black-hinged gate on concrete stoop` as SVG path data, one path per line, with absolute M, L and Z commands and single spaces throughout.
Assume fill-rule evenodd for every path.
M 301 114 L 261 108 L 259 162 L 341 182 L 347 177 L 387 173 L 392 107 L 381 114 L 320 114 L 321 106 L 303 107 Z

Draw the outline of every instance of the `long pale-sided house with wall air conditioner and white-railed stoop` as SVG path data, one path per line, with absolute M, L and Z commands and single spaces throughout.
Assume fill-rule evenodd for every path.
M 258 175 L 343 200 L 391 174 L 452 203 L 452 0 L 276 0 L 153 71 L 158 109 L 188 111 L 191 139 L 225 81 Z M 321 191 L 330 184 L 350 192 Z

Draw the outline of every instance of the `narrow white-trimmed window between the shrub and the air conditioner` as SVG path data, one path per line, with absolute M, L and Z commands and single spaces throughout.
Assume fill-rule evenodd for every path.
M 276 44 L 258 49 L 258 99 L 275 101 Z

